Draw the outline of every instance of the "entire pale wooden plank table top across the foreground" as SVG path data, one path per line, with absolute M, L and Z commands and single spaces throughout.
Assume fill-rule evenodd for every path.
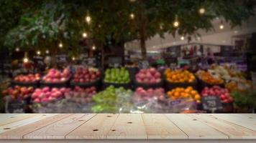
M 0 139 L 256 139 L 256 114 L 0 114 Z

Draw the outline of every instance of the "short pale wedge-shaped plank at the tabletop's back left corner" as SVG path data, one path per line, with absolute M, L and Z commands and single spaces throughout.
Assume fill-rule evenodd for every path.
M 4 126 L 6 124 L 11 124 L 13 122 L 18 122 L 21 121 L 23 119 L 28 119 L 29 117 L 33 117 L 35 116 L 35 114 L 14 114 L 13 116 L 9 116 L 9 114 L 7 116 L 2 115 L 3 119 L 1 119 L 0 122 L 0 127 Z

